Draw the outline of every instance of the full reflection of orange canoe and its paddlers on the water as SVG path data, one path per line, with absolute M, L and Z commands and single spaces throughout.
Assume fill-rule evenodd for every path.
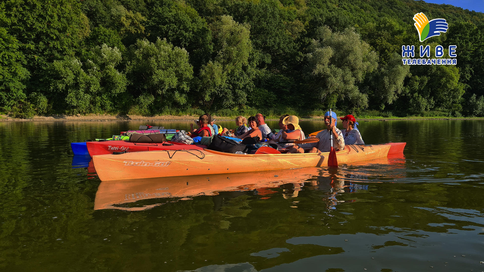
M 268 199 L 272 194 L 281 193 L 284 198 L 289 199 L 297 197 L 303 187 L 326 191 L 328 209 L 333 209 L 338 203 L 337 194 L 353 193 L 368 187 L 355 182 L 368 181 L 368 175 L 381 175 L 388 179 L 402 177 L 403 172 L 398 169 L 404 169 L 404 163 L 405 158 L 400 154 L 398 157 L 367 161 L 359 165 L 342 165 L 338 168 L 307 167 L 251 173 L 102 181 L 96 192 L 94 210 L 143 211 L 166 203 L 166 199 L 189 200 L 195 196 L 225 195 L 227 192 L 243 194 L 252 191 L 255 195 L 262 196 L 260 199 Z M 278 188 L 282 192 L 275 190 Z M 165 200 L 133 206 L 136 201 L 154 198 Z M 297 203 L 298 201 L 294 201 L 291 207 L 297 208 Z

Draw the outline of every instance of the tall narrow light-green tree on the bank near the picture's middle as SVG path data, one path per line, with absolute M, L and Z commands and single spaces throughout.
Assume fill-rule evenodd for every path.
M 257 52 L 252 48 L 250 28 L 221 16 L 210 25 L 215 58 L 203 65 L 195 85 L 203 106 L 213 110 L 242 106 L 253 89 Z

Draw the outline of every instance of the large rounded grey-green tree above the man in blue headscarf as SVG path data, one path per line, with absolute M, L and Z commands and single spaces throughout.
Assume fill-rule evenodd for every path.
M 335 107 L 336 101 L 354 108 L 368 106 L 368 97 L 358 84 L 377 68 L 377 54 L 360 39 L 354 29 L 342 33 L 321 27 L 306 55 L 305 78 L 322 106 Z

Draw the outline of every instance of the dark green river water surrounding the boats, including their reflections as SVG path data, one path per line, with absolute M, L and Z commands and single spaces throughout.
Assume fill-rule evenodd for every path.
M 484 271 L 484 121 L 361 122 L 404 156 L 338 169 L 101 182 L 73 158 L 145 123 L 0 122 L 1 271 Z

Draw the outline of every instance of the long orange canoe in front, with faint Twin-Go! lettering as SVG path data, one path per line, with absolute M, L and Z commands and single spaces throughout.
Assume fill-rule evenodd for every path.
M 339 164 L 386 157 L 391 145 L 347 145 L 337 151 Z M 212 150 L 144 151 L 93 156 L 101 181 L 201 174 L 227 174 L 327 166 L 329 152 L 303 154 L 231 154 Z

